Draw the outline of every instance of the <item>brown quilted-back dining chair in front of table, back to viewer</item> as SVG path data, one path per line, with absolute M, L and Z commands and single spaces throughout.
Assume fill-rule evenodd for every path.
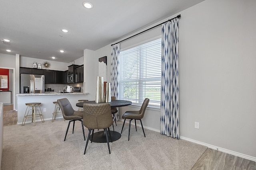
M 87 137 L 87 141 L 84 149 L 84 154 L 88 146 L 88 141 L 90 138 L 91 131 L 92 131 L 92 139 L 93 139 L 94 129 L 104 129 L 106 134 L 106 141 L 108 143 L 108 151 L 110 154 L 107 128 L 108 128 L 108 134 L 110 136 L 110 140 L 112 141 L 109 127 L 113 125 L 113 123 L 114 121 L 112 119 L 111 107 L 109 103 L 98 103 L 98 104 L 84 103 L 83 124 L 85 127 L 89 129 L 89 133 L 88 133 L 88 137 Z

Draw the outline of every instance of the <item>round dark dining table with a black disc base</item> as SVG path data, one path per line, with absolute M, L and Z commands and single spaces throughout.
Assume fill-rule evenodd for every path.
M 84 107 L 84 103 L 95 104 L 96 102 L 95 101 L 79 102 L 76 104 L 76 106 Z M 128 100 L 111 100 L 111 102 L 108 102 L 108 103 L 110 104 L 110 107 L 123 107 L 123 106 L 132 105 L 132 102 Z M 117 131 L 110 131 L 110 135 L 111 135 L 112 141 L 117 141 L 121 137 L 121 134 Z M 109 136 L 108 136 L 108 139 L 110 139 Z M 106 143 L 107 142 L 106 133 L 104 131 L 96 132 L 93 134 L 93 139 L 92 139 L 92 135 L 90 135 L 89 140 L 96 143 Z

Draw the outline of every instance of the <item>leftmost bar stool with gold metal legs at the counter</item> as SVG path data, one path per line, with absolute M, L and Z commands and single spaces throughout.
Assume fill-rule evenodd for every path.
M 29 117 L 29 118 L 32 118 L 32 122 L 33 122 L 33 118 L 34 118 L 34 126 L 36 126 L 36 117 L 40 117 L 42 123 L 44 123 L 44 117 L 43 117 L 43 114 L 42 114 L 42 110 L 41 110 L 40 104 L 41 104 L 41 103 L 37 103 L 37 102 L 34 102 L 34 103 L 26 103 L 27 108 L 26 108 L 25 115 L 24 115 L 24 117 L 23 117 L 23 121 L 22 121 L 22 124 L 21 124 L 22 126 L 25 125 L 26 119 L 27 119 L 28 117 Z M 29 106 L 32 106 L 32 109 L 29 109 L 29 110 L 28 110 L 28 107 L 29 107 Z M 35 106 L 39 106 L 41 113 L 39 112 L 39 110 L 38 110 Z M 28 113 L 29 113 L 29 111 L 31 110 L 31 111 L 32 111 L 32 114 L 29 115 L 29 114 L 27 113 L 27 110 L 28 110 Z M 36 114 L 36 110 L 38 111 L 38 114 Z M 26 115 L 26 113 L 27 113 L 27 115 Z M 42 117 L 41 117 L 41 116 L 42 116 Z M 26 118 L 25 121 L 24 121 L 24 118 Z M 23 123 L 23 122 L 24 122 L 24 123 Z

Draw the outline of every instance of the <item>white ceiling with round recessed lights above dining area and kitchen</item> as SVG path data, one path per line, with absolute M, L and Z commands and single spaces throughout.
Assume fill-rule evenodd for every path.
M 70 63 L 202 1 L 0 0 L 0 53 Z

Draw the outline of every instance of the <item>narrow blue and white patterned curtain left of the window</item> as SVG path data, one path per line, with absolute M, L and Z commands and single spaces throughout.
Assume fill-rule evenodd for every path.
M 118 99 L 118 59 L 120 53 L 120 43 L 112 45 L 111 49 L 111 96 Z M 117 108 L 118 109 L 118 108 Z M 116 120 L 119 120 L 119 113 L 115 114 Z

